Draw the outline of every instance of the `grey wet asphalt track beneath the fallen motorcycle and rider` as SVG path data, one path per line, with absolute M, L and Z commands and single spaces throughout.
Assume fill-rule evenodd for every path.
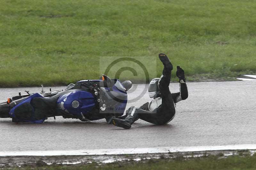
M 0 152 L 256 144 L 256 81 L 187 84 L 188 99 L 177 103 L 176 116 L 168 125 L 138 120 L 125 130 L 103 119 L 81 122 L 59 116 L 43 124 L 15 124 L 0 118 Z M 143 88 L 138 85 L 136 94 Z M 41 91 L 0 89 L 0 102 L 28 89 Z M 179 84 L 171 84 L 171 92 L 178 91 Z M 134 94 L 128 94 L 129 99 Z M 146 93 L 128 106 L 139 107 L 148 100 Z

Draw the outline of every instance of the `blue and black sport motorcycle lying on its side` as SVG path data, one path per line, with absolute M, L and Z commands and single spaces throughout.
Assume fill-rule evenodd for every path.
M 127 104 L 127 92 L 132 87 L 129 80 L 121 83 L 102 75 L 99 80 L 81 80 L 65 90 L 56 90 L 8 98 L 0 104 L 0 118 L 12 118 L 12 122 L 42 123 L 48 117 L 62 116 L 81 121 L 121 116 Z

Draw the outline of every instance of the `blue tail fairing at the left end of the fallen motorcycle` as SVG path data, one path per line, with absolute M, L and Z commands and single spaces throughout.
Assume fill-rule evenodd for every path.
M 20 120 L 18 119 L 16 116 L 15 116 L 15 109 L 17 109 L 18 107 L 20 107 L 22 104 L 25 104 L 25 103 L 30 103 L 32 99 L 36 98 L 36 97 L 41 97 L 41 98 L 44 98 L 43 96 L 41 96 L 39 93 L 35 93 L 31 96 L 28 96 L 25 100 L 23 100 L 22 102 L 20 102 L 18 105 L 14 106 L 10 112 L 9 112 L 9 115 L 11 118 L 14 118 L 16 120 L 18 120 L 18 122 L 31 122 L 31 123 L 43 123 L 44 119 L 41 119 L 41 120 L 36 120 L 34 118 L 34 108 L 32 107 L 32 110 L 33 110 L 33 113 L 32 113 L 32 116 L 30 117 L 30 120 Z

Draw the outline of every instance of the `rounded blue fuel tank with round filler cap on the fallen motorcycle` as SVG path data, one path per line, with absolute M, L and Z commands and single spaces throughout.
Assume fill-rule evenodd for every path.
M 66 114 L 80 115 L 92 110 L 95 106 L 95 98 L 90 92 L 74 90 L 60 96 L 57 104 Z

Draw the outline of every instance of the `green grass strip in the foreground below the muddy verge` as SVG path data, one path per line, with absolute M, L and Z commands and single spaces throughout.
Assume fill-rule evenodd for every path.
M 256 156 L 229 156 L 228 158 L 219 158 L 210 156 L 206 158 L 185 159 L 179 157 L 176 159 L 150 159 L 144 162 L 116 162 L 109 164 L 97 163 L 87 165 L 70 166 L 42 166 L 42 167 L 24 167 L 19 169 L 102 169 L 102 170 L 149 170 L 149 169 L 177 169 L 177 170 L 252 170 L 256 169 Z

